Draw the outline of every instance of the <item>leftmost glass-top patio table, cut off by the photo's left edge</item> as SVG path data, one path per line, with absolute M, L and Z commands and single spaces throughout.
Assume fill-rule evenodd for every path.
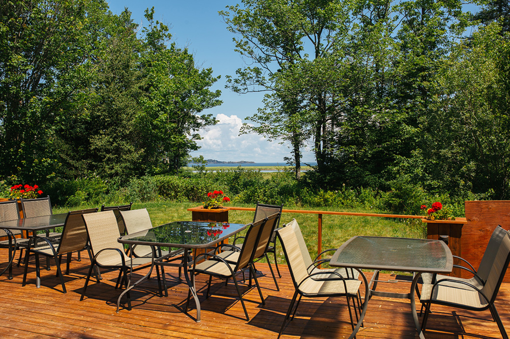
M 66 216 L 67 213 L 61 213 L 38 216 L 33 218 L 21 218 L 15 220 L 0 221 L 0 229 L 25 231 L 28 238 L 30 232 L 32 232 L 32 236 L 35 236 L 37 231 L 43 231 L 54 227 L 62 227 L 65 223 Z M 7 271 L 7 269 L 9 269 L 9 279 L 12 279 L 12 262 L 14 261 L 15 253 L 16 246 L 14 246 L 12 256 L 10 256 L 9 259 L 9 263 L 0 272 L 0 275 L 2 275 L 5 273 L 5 271 Z M 47 265 L 47 269 L 49 269 L 49 265 Z

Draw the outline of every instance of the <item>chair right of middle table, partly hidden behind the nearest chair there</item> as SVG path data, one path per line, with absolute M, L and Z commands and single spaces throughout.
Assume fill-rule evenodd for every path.
M 273 276 L 274 285 L 276 285 L 277 291 L 279 291 L 280 288 L 278 286 L 276 277 L 274 276 L 273 268 L 271 267 L 271 263 L 267 256 L 267 249 L 269 247 L 270 239 L 274 233 L 274 229 L 276 228 L 276 224 L 279 219 L 280 219 L 280 213 L 276 212 L 270 216 L 266 216 L 266 217 L 258 220 L 258 221 L 266 220 L 266 223 L 264 224 L 264 226 L 261 230 L 261 235 L 260 235 L 259 240 L 257 241 L 257 245 L 256 245 L 257 248 L 256 248 L 255 252 L 253 253 L 253 259 L 251 262 L 251 265 L 253 266 L 253 269 L 255 270 L 255 266 L 254 266 L 255 263 L 263 258 L 266 258 L 267 263 L 269 265 L 269 269 L 271 271 L 271 275 Z M 244 239 L 244 237 L 243 237 L 243 239 Z M 220 253 L 216 253 L 217 256 L 225 259 L 227 262 L 236 263 L 239 258 L 239 255 L 241 253 L 242 246 L 241 246 L 241 248 L 239 248 L 236 245 L 224 244 L 221 246 L 221 249 L 223 251 Z M 227 250 L 227 249 L 231 249 L 231 250 Z M 249 275 L 249 277 L 250 277 L 249 285 L 251 286 L 251 274 Z

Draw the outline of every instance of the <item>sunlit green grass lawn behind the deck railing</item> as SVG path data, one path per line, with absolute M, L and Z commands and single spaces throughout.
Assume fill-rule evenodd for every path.
M 175 220 L 191 219 L 190 207 L 198 206 L 197 203 L 175 203 L 175 202 L 152 202 L 135 203 L 133 209 L 146 208 L 149 212 L 152 225 L 157 226 Z M 255 207 L 254 205 L 242 204 L 237 207 Z M 100 206 L 77 206 L 71 210 L 78 210 Z M 286 206 L 288 209 L 302 210 L 295 206 Z M 65 213 L 69 208 L 55 208 L 54 213 Z M 309 210 L 340 211 L 339 209 L 309 208 Z M 342 212 L 372 212 L 361 209 L 342 209 Z M 253 212 L 229 211 L 229 221 L 233 223 L 249 223 L 253 219 Z M 312 258 L 317 255 L 317 214 L 283 213 L 280 225 L 296 218 L 303 237 L 307 241 L 308 249 Z M 342 216 L 323 215 L 322 217 L 322 249 L 337 248 L 347 239 L 355 235 L 367 236 L 388 236 L 403 238 L 424 238 L 426 232 L 425 224 L 419 219 L 396 220 L 393 218 L 364 217 L 364 216 Z M 278 249 L 281 247 L 277 246 Z M 332 254 L 332 253 L 331 253 Z M 283 253 L 277 253 L 278 262 L 285 262 Z

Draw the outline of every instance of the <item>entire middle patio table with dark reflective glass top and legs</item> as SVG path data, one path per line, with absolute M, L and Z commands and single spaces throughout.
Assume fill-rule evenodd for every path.
M 188 250 L 196 248 L 207 248 L 243 231 L 245 224 L 228 223 L 228 222 L 200 222 L 200 221 L 174 221 L 155 228 L 122 236 L 118 239 L 120 243 L 129 245 L 149 245 L 155 246 L 184 248 L 183 268 L 186 283 L 196 304 L 196 322 L 200 321 L 200 301 L 195 290 L 195 279 L 190 277 L 188 272 Z M 152 250 L 153 256 L 156 251 Z M 154 258 L 153 258 L 154 259 Z M 158 265 L 165 265 L 161 259 L 156 259 Z M 119 296 L 117 301 L 117 309 L 120 298 L 130 289 L 140 284 L 148 277 L 155 262 L 152 261 L 149 273 L 139 279 L 135 284 L 127 287 Z M 187 310 L 186 310 L 187 311 Z

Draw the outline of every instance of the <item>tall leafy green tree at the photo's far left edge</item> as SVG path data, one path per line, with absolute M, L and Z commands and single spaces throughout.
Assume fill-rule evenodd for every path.
M 0 1 L 0 175 L 40 182 L 58 170 L 56 128 L 88 77 L 89 14 L 106 6 Z

